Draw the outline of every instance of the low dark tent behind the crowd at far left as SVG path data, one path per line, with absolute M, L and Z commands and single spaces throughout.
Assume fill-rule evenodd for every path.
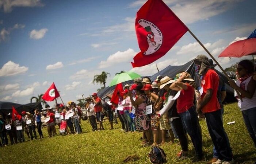
M 39 109 L 39 112 L 43 109 L 41 102 L 32 102 L 29 104 L 16 104 L 13 102 L 0 101 L 0 114 L 5 116 L 8 113 L 12 113 L 12 106 L 17 110 L 18 113 L 22 111 L 33 113 L 34 109 Z

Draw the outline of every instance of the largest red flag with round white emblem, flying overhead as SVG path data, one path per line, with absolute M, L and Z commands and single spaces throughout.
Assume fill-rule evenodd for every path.
M 141 67 L 164 56 L 188 28 L 162 0 L 148 0 L 137 12 L 135 30 L 141 52 L 131 64 Z

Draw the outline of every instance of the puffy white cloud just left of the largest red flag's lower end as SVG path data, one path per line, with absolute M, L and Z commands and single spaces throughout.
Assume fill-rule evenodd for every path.
M 133 49 L 129 48 L 126 51 L 118 51 L 115 54 L 108 56 L 106 61 L 101 61 L 99 68 L 110 67 L 116 63 L 122 63 L 131 60 L 135 56 L 136 52 Z

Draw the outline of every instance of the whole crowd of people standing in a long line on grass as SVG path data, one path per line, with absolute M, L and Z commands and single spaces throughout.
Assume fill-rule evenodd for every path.
M 106 95 L 101 100 L 96 93 L 85 99 L 85 109 L 92 127 L 92 131 L 104 130 L 102 121 L 107 116 L 110 129 L 117 124 L 118 116 L 124 132 L 142 132 L 143 146 L 164 145 L 167 133 L 171 142 L 178 138 L 181 151 L 177 157 L 182 160 L 188 158 L 188 136 L 195 149 L 193 162 L 205 161 L 202 150 L 202 130 L 199 118 L 205 119 L 210 137 L 213 142 L 213 158 L 211 164 L 233 164 L 233 153 L 229 137 L 223 128 L 223 100 L 226 97 L 224 79 L 214 71 L 212 60 L 205 55 L 198 55 L 195 59 L 196 75 L 200 80 L 196 86 L 187 72 L 177 73 L 174 78 L 158 76 L 153 82 L 150 78 L 134 79 L 134 84 L 125 85 L 117 93 L 118 104 L 110 103 L 112 96 Z M 256 73 L 255 65 L 250 60 L 242 60 L 237 65 L 237 81 L 230 81 L 235 92 L 238 106 L 241 109 L 245 125 L 256 147 Z M 81 109 L 74 102 L 64 106 L 56 104 L 55 112 L 46 106 L 46 121 L 49 137 L 55 136 L 57 124 L 61 134 L 80 134 Z M 22 112 L 22 118 L 12 120 L 8 114 L 3 120 L 0 116 L 1 145 L 24 142 L 25 132 L 31 140 L 37 139 L 36 126 L 40 138 L 41 113 L 35 109 L 34 114 Z M 34 134 L 34 136 L 33 136 Z

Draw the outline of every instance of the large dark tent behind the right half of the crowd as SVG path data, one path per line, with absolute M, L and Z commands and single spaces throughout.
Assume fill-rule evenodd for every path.
M 171 77 L 171 78 L 175 78 L 175 75 L 177 73 L 181 73 L 183 71 L 187 71 L 188 73 L 190 73 L 191 78 L 193 78 L 195 80 L 195 82 L 196 82 L 196 86 L 197 87 L 200 86 L 199 85 L 200 84 L 200 79 L 196 75 L 196 71 L 195 71 L 195 66 L 194 66 L 193 60 L 187 62 L 184 65 L 180 65 L 180 66 L 171 66 L 171 65 L 169 65 L 165 69 L 163 69 L 163 70 L 159 71 L 158 73 L 150 76 L 149 78 L 152 81 L 154 81 L 158 75 L 168 76 L 168 77 Z M 225 98 L 225 102 L 234 102 L 234 101 L 236 101 L 236 99 L 234 98 L 234 89 L 229 86 L 228 78 L 226 78 L 225 75 L 222 74 L 221 72 L 219 72 L 218 70 L 215 69 L 215 71 L 225 81 L 226 92 L 227 92 L 227 96 Z M 123 86 L 126 85 L 126 84 L 131 85 L 131 84 L 133 84 L 133 81 L 132 80 L 126 81 L 126 82 L 123 82 L 122 84 L 123 84 Z M 106 94 L 111 94 L 111 93 L 114 92 L 114 90 L 115 90 L 115 86 L 106 87 L 106 88 L 100 90 L 98 92 L 98 95 L 99 95 L 100 98 L 105 98 Z

